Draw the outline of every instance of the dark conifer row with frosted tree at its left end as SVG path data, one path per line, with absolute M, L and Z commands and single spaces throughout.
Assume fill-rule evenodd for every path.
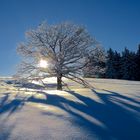
M 99 52 L 102 55 L 97 55 Z M 88 60 L 89 64 L 84 69 L 85 77 L 140 81 L 140 45 L 136 52 L 127 48 L 121 53 L 111 48 L 107 52 L 99 49 Z

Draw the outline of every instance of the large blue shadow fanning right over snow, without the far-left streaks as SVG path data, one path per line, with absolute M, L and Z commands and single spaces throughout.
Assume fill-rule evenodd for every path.
M 85 105 L 79 102 L 68 100 L 62 96 L 49 95 L 44 92 L 42 92 L 42 94 L 46 95 L 47 100 L 30 97 L 28 101 L 57 106 L 67 111 L 73 115 L 73 122 L 75 125 L 79 125 L 79 127 L 82 126 L 89 133 L 96 134 L 98 138 L 104 140 L 113 138 L 118 140 L 140 139 L 140 120 L 138 120 L 136 117 L 137 114 L 140 113 L 139 102 L 129 97 L 122 96 L 116 92 L 108 91 L 110 94 L 107 94 L 99 93 L 92 89 L 93 94 L 96 94 L 104 102 L 102 104 L 89 97 L 82 96 L 74 91 L 68 92 L 84 102 Z M 124 99 L 137 104 L 137 106 L 123 102 Z M 124 108 L 124 106 L 127 108 Z M 72 108 L 76 109 L 77 111 L 74 111 Z M 132 113 L 128 110 L 128 108 L 130 110 L 135 110 L 137 114 Z M 106 127 L 102 127 L 94 122 L 91 122 L 79 114 L 78 111 L 85 113 L 93 119 L 95 118 Z

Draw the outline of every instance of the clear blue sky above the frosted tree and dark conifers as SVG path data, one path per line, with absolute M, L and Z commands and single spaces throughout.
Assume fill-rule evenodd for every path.
M 139 0 L 0 0 L 0 76 L 15 73 L 16 47 L 42 21 L 85 25 L 104 48 L 137 50 Z

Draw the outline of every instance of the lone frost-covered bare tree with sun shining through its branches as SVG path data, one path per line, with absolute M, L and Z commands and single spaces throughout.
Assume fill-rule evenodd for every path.
M 40 24 L 26 32 L 27 41 L 17 47 L 23 56 L 17 74 L 23 78 L 57 77 L 57 89 L 62 90 L 62 77 L 80 80 L 85 57 L 91 53 L 97 41 L 83 26 L 72 23 Z

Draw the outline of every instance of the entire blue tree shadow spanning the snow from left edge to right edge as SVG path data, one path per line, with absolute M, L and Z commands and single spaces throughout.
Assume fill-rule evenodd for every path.
M 92 139 L 94 135 L 98 139 L 104 140 L 132 140 L 140 139 L 140 102 L 124 96 L 121 93 L 110 90 L 97 92 L 91 89 L 102 103 L 91 97 L 79 94 L 75 91 L 67 91 L 80 102 L 69 100 L 65 96 L 48 94 L 39 91 L 46 96 L 46 99 L 30 96 L 29 98 L 18 98 L 8 100 L 10 93 L 5 93 L 0 100 L 0 115 L 8 112 L 8 116 L 21 109 L 25 102 L 41 103 L 59 107 L 68 112 L 70 117 L 58 115 L 55 113 L 42 112 L 44 115 L 55 115 L 60 119 L 71 121 L 73 125 L 82 128 Z M 86 115 L 86 117 L 85 117 Z M 92 121 L 93 120 L 93 121 Z

